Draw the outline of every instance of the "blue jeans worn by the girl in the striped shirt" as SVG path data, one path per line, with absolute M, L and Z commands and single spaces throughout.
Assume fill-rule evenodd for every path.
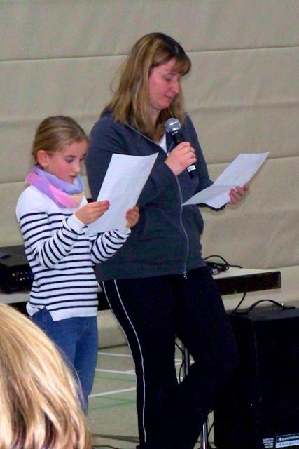
M 83 409 L 87 410 L 97 364 L 97 316 L 53 321 L 45 307 L 32 316 L 32 321 L 57 345 L 71 370 L 78 374 Z

